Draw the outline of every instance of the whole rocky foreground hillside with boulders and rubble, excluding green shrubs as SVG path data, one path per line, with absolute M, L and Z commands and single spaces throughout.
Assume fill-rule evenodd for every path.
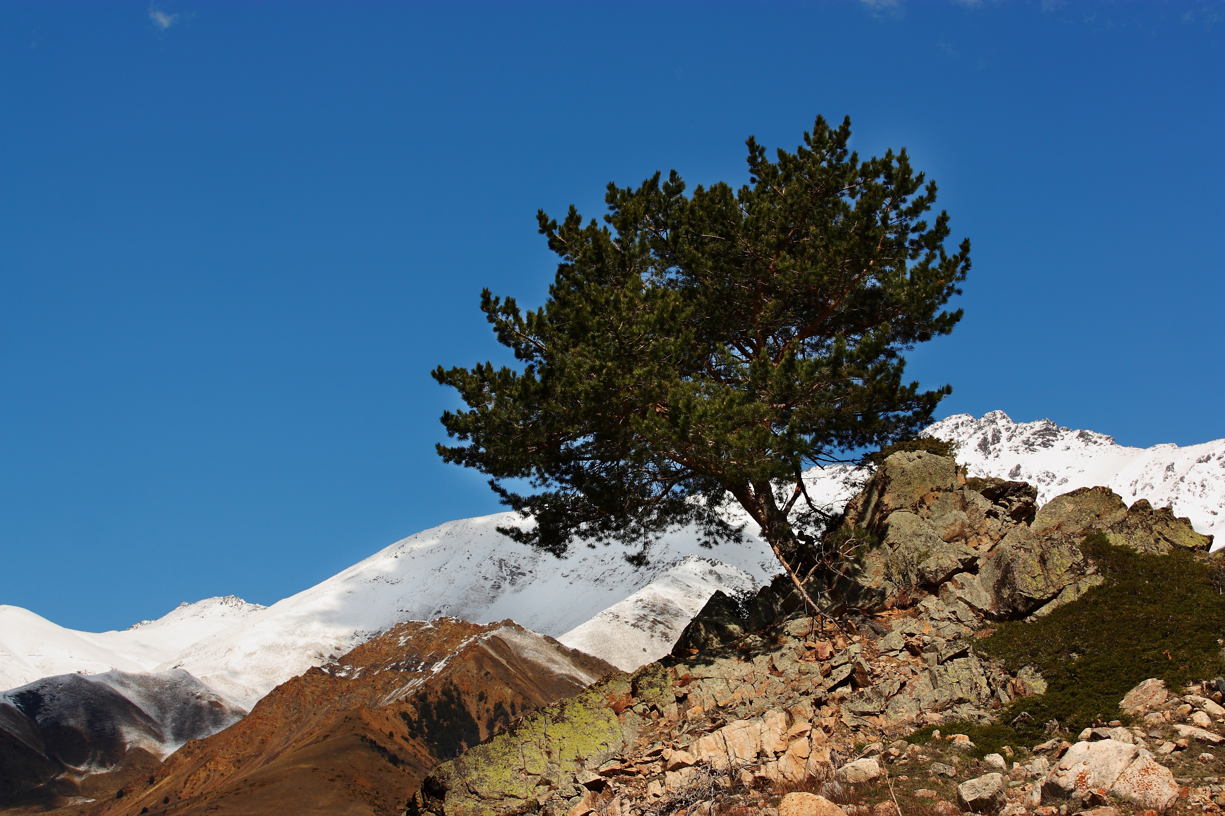
M 1225 762 L 1196 746 L 1221 739 L 1225 721 L 1214 712 L 1225 680 L 1181 697 L 1154 694 L 1147 712 L 1136 705 L 1143 690 L 1133 691 L 1116 713 L 1143 714 L 1147 730 L 1102 723 L 1076 744 L 1051 723 L 1054 739 L 981 756 L 968 736 L 937 730 L 987 725 L 1046 692 L 1033 667 L 1009 667 L 976 644 L 997 620 L 1038 620 L 1101 585 L 1080 548 L 1088 533 L 1138 553 L 1212 544 L 1186 519 L 1147 503 L 1128 509 L 1105 488 L 1039 509 L 1027 483 L 894 454 L 827 536 L 853 568 L 809 579 L 821 609 L 805 609 L 779 579 L 745 603 L 715 593 L 670 657 L 605 678 L 445 762 L 408 810 L 1056 816 L 1094 806 L 1164 812 L 1191 796 L 1215 809 L 1212 774 Z M 1175 774 L 1192 768 L 1203 784 Z

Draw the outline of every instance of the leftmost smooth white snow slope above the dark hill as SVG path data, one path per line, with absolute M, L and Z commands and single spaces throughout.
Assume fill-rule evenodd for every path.
M 21 607 L 0 606 L 0 690 L 56 674 L 148 672 L 158 663 L 263 607 L 241 598 L 180 603 L 124 631 L 65 629 Z

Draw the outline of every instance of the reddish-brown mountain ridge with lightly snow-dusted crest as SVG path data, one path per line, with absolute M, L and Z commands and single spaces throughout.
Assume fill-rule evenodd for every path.
M 399 814 L 439 762 L 615 670 L 508 620 L 398 624 L 81 812 Z

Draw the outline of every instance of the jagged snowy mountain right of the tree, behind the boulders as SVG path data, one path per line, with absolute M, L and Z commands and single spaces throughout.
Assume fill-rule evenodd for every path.
M 1050 420 L 1013 422 L 1003 411 L 975 420 L 958 414 L 925 434 L 958 444 L 970 476 L 995 476 L 1038 487 L 1040 504 L 1078 487 L 1105 484 L 1127 504 L 1148 499 L 1187 516 L 1200 533 L 1225 547 L 1225 439 L 1180 448 L 1127 448 L 1094 431 L 1061 428 Z

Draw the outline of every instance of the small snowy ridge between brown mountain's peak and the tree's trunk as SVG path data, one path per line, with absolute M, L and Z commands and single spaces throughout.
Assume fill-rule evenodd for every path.
M 688 555 L 676 566 L 614 603 L 560 640 L 632 672 L 671 651 L 686 624 L 715 590 L 751 595 L 761 586 L 755 576 L 712 558 Z

